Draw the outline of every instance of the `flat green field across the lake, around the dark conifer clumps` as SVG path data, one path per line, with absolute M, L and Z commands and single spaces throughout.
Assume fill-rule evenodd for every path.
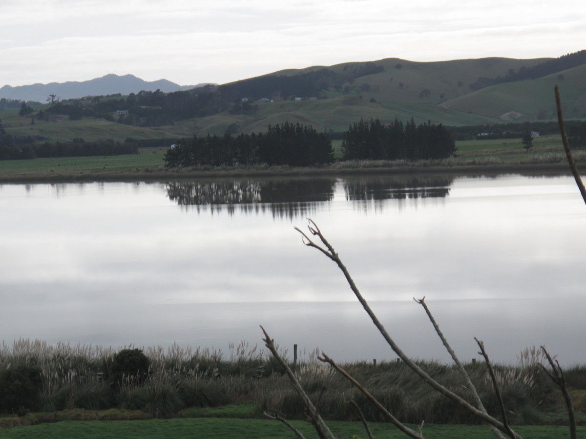
M 336 157 L 341 157 L 342 140 L 333 140 Z M 343 174 L 362 172 L 518 172 L 522 170 L 565 170 L 567 162 L 560 137 L 534 139 L 531 152 L 523 149 L 520 139 L 466 140 L 456 142 L 454 157 L 421 162 L 335 162 L 319 169 L 289 167 L 197 167 L 166 170 L 165 151 L 141 148 L 138 154 L 101 157 L 59 157 L 32 160 L 0 160 L 0 181 L 67 181 L 67 180 L 138 180 L 202 176 L 265 176 Z M 586 152 L 574 153 L 577 162 L 586 161 Z

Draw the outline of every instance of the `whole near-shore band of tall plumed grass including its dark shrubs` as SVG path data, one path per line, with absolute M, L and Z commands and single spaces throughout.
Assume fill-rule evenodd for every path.
M 288 357 L 286 351 L 281 350 L 281 355 Z M 512 424 L 543 426 L 541 429 L 526 428 L 533 428 L 534 433 L 544 434 L 543 437 L 564 437 L 560 429 L 551 427 L 564 426 L 567 418 L 556 387 L 537 365 L 543 361 L 539 349 L 527 348 L 520 352 L 514 365 L 494 365 L 494 368 Z M 456 366 L 434 361 L 419 363 L 454 392 L 466 393 L 460 385 Z M 363 433 L 358 422 L 352 423 L 359 418 L 348 402 L 350 399 L 360 404 L 364 417 L 373 423 L 375 431 L 384 432 L 384 437 L 399 433 L 390 424 L 384 424 L 384 416 L 367 403 L 359 390 L 328 365 L 317 361 L 316 352 L 302 355 L 295 366 L 289 360 L 288 365 L 296 368 L 308 395 L 319 400 L 325 419 L 346 421 L 331 423 L 342 437 Z M 343 366 L 373 389 L 374 396 L 407 423 L 425 419 L 428 437 L 490 437 L 490 431 L 479 426 L 478 419 L 441 395 L 429 392 L 402 362 L 354 362 Z M 481 363 L 468 363 L 465 368 L 486 408 L 498 411 L 499 402 L 486 368 Z M 564 373 L 577 410 L 578 424 L 585 426 L 586 369 L 583 365 L 575 365 L 566 368 Z M 377 385 L 381 382 L 387 385 Z M 198 424 L 195 420 L 190 424 L 182 419 L 212 417 L 217 418 L 214 422 L 221 424 L 218 428 L 240 422 L 235 419 L 251 420 L 250 428 L 260 428 L 259 431 L 267 434 L 270 431 L 270 437 L 280 437 L 274 436 L 272 431 L 280 432 L 281 424 L 266 420 L 263 411 L 278 410 L 287 419 L 304 419 L 304 405 L 291 388 L 280 363 L 268 352 L 257 350 L 246 342 L 231 345 L 229 354 L 224 356 L 218 351 L 178 345 L 168 349 L 130 347 L 116 351 L 87 345 L 52 346 L 21 339 L 12 345 L 3 345 L 0 350 L 0 395 L 0 428 L 63 420 L 131 421 L 173 417 L 181 418 L 173 421 L 176 423 L 173 428 L 183 431 L 181 428 Z M 470 425 L 427 426 L 428 423 Z M 303 427 L 302 424 L 297 421 L 297 425 Z M 45 428 L 49 427 L 38 431 L 47 431 Z M 75 432 L 75 428 L 69 425 L 66 430 Z M 111 427 L 100 423 L 100 428 Z M 139 428 L 142 427 L 138 424 L 132 427 L 135 434 Z M 523 431 L 523 427 L 518 430 Z M 2 437 L 11 437 L 11 430 L 0 431 Z M 28 431 L 34 433 L 35 430 Z M 224 434 L 229 431 L 225 430 Z M 567 434 L 566 428 L 563 433 Z M 285 429 L 282 434 L 287 437 L 290 431 Z M 528 431 L 527 437 L 542 436 Z

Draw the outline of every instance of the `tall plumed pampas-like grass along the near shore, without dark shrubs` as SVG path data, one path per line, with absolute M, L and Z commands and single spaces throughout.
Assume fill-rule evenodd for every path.
M 282 355 L 287 352 L 281 349 Z M 37 410 L 100 410 L 110 407 L 142 410 L 152 417 L 168 417 L 184 407 L 214 407 L 227 403 L 254 402 L 260 416 L 263 410 L 279 410 L 291 418 L 303 418 L 304 406 L 272 356 L 247 342 L 231 344 L 222 352 L 200 348 L 149 347 L 148 379 L 124 376 L 118 386 L 110 380 L 110 367 L 116 352 L 111 348 L 57 344 L 19 339 L 2 344 L 0 372 L 17 366 L 38 366 L 42 371 Z M 367 419 L 384 421 L 380 413 L 349 382 L 329 365 L 316 359 L 317 351 L 302 355 L 297 374 L 326 419 L 357 420 L 348 403 L 354 399 Z M 517 356 L 516 365 L 495 365 L 510 417 L 516 423 L 548 423 L 548 411 L 556 410 L 558 398 L 541 372 L 539 349 L 527 348 Z M 420 361 L 420 366 L 449 389 L 468 398 L 455 366 Z M 425 386 L 401 362 L 353 362 L 343 367 L 399 419 L 411 423 L 476 423 L 468 412 Z M 498 414 L 498 401 L 483 364 L 465 366 L 486 408 Z M 586 389 L 586 366 L 566 372 L 570 387 Z M 15 407 L 13 411 L 18 410 Z

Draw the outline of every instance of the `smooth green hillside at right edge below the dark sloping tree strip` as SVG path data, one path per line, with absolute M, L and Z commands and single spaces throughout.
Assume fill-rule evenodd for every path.
M 567 119 L 586 117 L 586 65 L 539 79 L 504 83 L 482 88 L 441 104 L 459 112 L 470 112 L 503 121 L 555 119 L 554 85 L 560 85 Z

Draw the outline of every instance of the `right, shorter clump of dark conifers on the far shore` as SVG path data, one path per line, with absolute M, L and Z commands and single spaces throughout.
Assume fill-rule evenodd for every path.
M 342 141 L 345 160 L 445 159 L 456 150 L 455 141 L 442 124 L 403 124 L 395 119 L 385 125 L 379 119 L 360 119 L 350 125 Z

